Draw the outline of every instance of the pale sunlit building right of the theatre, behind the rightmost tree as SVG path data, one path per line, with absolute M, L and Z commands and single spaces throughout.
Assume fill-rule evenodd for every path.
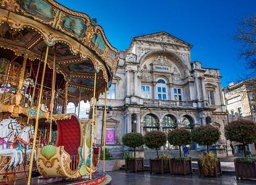
M 228 87 L 223 88 L 226 109 L 228 110 L 228 121 L 234 121 L 239 118 L 254 121 L 256 123 L 256 78 L 241 81 L 240 83 L 230 83 Z M 242 145 L 233 143 L 235 153 L 244 152 Z M 247 148 L 255 155 L 255 144 L 250 144 Z

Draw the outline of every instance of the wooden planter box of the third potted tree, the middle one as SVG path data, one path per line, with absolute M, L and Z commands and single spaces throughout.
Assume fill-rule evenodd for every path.
M 174 158 L 170 160 L 170 172 L 187 175 L 187 173 L 192 173 L 192 162 L 191 158 L 184 159 L 183 161 L 177 161 Z

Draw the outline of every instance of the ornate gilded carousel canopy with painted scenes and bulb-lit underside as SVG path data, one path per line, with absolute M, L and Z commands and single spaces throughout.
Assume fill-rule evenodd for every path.
M 96 95 L 108 86 L 117 68 L 117 49 L 95 20 L 52 0 L 2 0 L 0 7 L 1 52 L 13 51 L 16 58 L 9 56 L 10 61 L 26 51 L 27 66 L 36 71 L 36 61 L 44 59 L 50 46 L 46 76 L 51 78 L 55 55 L 57 73 L 68 81 L 69 97 L 76 99 L 80 93 L 81 99 L 92 97 L 95 69 Z M 47 83 L 51 86 L 51 80 Z

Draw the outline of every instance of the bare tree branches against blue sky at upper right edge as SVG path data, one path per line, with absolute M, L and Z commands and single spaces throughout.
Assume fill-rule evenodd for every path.
M 248 68 L 256 72 L 256 13 L 239 23 L 235 39 L 242 44 L 241 57 L 247 60 Z

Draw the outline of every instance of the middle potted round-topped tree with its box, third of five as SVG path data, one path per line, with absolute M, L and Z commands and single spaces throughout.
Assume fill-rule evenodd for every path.
M 191 158 L 181 157 L 181 146 L 191 143 L 191 132 L 185 128 L 171 130 L 167 136 L 168 142 L 174 146 L 179 146 L 180 157 L 171 158 L 170 172 L 186 175 L 192 173 Z

